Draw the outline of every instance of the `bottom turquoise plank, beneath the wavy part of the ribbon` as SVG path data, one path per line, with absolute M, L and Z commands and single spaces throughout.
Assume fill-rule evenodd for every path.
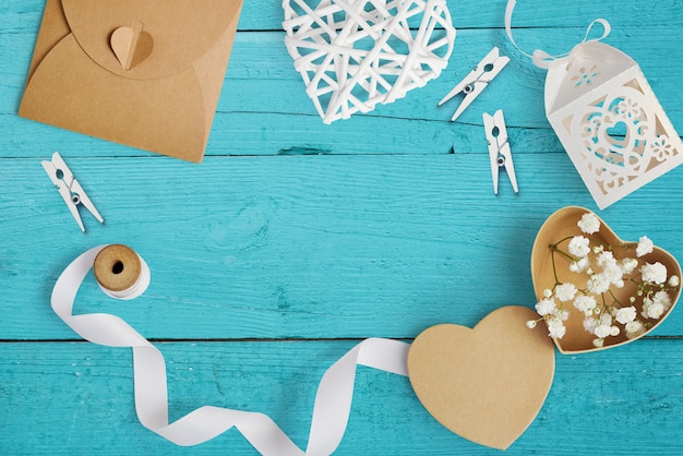
M 352 341 L 158 344 L 171 419 L 202 405 L 269 415 L 305 445 L 323 372 Z M 506 455 L 678 455 L 683 340 L 558 356 L 538 418 Z M 230 454 L 255 452 L 235 431 L 175 446 L 136 420 L 128 349 L 91 344 L 0 344 L 3 454 Z M 601 423 L 601 425 L 598 425 Z M 495 455 L 433 420 L 405 377 L 359 368 L 339 455 Z

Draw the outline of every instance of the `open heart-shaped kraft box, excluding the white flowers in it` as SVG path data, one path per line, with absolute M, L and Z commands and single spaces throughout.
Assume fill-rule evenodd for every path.
M 555 244 L 560 240 L 565 238 L 572 238 L 574 236 L 586 236 L 590 237 L 594 242 L 601 242 L 607 245 L 626 245 L 627 250 L 620 248 L 615 250 L 615 254 L 619 253 L 620 256 L 628 256 L 636 259 L 636 245 L 637 242 L 627 242 L 620 239 L 614 231 L 602 220 L 600 217 L 596 215 L 598 220 L 600 220 L 600 230 L 592 235 L 586 235 L 582 232 L 577 223 L 582 219 L 584 214 L 591 213 L 591 211 L 579 207 L 579 206 L 567 206 L 559 209 L 554 214 L 552 214 L 546 223 L 541 226 L 534 241 L 534 249 L 531 251 L 531 278 L 534 281 L 534 290 L 536 292 L 536 298 L 543 298 L 544 289 L 552 289 L 555 285 L 555 277 L 553 273 L 553 260 L 550 244 Z M 566 243 L 562 244 L 564 247 L 564 251 L 566 251 Z M 626 255 L 627 253 L 627 255 Z M 562 254 L 554 255 L 555 267 L 554 271 L 558 274 L 558 280 L 560 283 L 573 283 L 576 285 L 578 289 L 585 289 L 586 284 L 588 281 L 588 274 L 586 273 L 573 273 L 570 271 L 570 263 L 572 260 L 567 259 Z M 681 277 L 681 266 L 673 255 L 671 255 L 666 250 L 662 250 L 658 247 L 655 247 L 651 253 L 648 253 L 639 259 L 637 259 L 640 265 L 645 263 L 655 264 L 659 262 L 667 267 L 668 275 L 676 275 Z M 640 266 L 638 266 L 635 271 L 636 275 L 639 277 L 637 272 Z M 628 298 L 637 295 L 637 286 L 636 284 L 626 280 L 624 277 L 625 285 L 622 288 L 616 288 L 612 286 L 610 288 L 610 292 L 614 295 L 614 297 L 624 305 L 631 305 Z M 620 345 L 627 344 L 630 341 L 637 340 L 638 338 L 647 335 L 649 332 L 655 329 L 661 322 L 669 316 L 673 308 L 675 307 L 676 301 L 681 295 L 681 287 L 678 287 L 676 290 L 672 290 L 669 292 L 671 298 L 671 305 L 661 317 L 658 320 L 644 319 L 643 321 L 651 324 L 648 329 L 637 336 L 628 339 L 625 335 L 625 332 L 622 331 L 618 336 L 610 336 L 604 339 L 603 347 L 596 348 L 592 345 L 592 340 L 596 338 L 595 335 L 586 332 L 584 329 L 584 313 L 572 304 L 572 302 L 566 302 L 564 309 L 570 312 L 570 316 L 567 321 L 564 322 L 566 327 L 566 334 L 561 339 L 554 339 L 555 345 L 560 352 L 567 353 L 579 353 L 579 352 L 588 352 L 588 351 L 597 351 L 603 350 L 606 348 L 612 348 Z M 596 297 L 598 302 L 601 302 L 601 297 Z M 640 317 L 640 311 L 643 309 L 643 299 L 637 299 L 633 305 L 636 308 L 636 312 L 638 319 Z M 538 319 L 538 315 L 536 316 Z M 544 326 L 544 325 L 541 325 Z

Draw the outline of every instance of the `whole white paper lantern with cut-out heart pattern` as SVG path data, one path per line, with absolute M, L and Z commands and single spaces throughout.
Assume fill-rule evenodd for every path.
M 549 63 L 546 113 L 600 208 L 683 163 L 681 139 L 638 64 L 598 40 Z

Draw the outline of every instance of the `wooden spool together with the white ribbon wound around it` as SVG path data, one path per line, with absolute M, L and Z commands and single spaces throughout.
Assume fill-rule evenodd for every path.
M 127 245 L 104 248 L 95 257 L 93 269 L 101 290 L 116 299 L 136 298 L 149 285 L 147 264 Z

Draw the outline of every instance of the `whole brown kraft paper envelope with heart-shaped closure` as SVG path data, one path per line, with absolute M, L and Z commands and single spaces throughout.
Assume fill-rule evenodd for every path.
M 47 0 L 20 116 L 201 161 L 242 0 Z

